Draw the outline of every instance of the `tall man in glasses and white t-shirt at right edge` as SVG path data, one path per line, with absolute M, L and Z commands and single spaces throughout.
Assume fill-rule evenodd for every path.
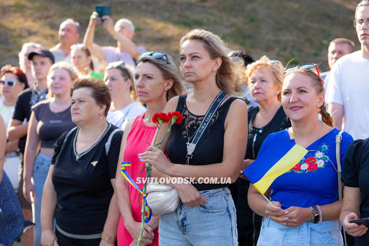
M 354 26 L 361 49 L 340 58 L 332 67 L 327 88 L 328 112 L 334 127 L 355 139 L 369 137 L 369 1 L 356 7 Z

